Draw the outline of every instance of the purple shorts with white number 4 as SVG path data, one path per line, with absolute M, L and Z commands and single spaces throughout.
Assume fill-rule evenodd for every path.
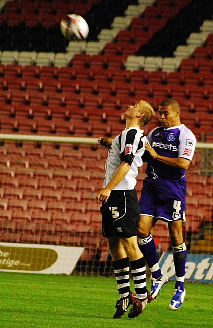
M 140 198 L 140 214 L 164 221 L 185 220 L 186 179 L 145 178 Z

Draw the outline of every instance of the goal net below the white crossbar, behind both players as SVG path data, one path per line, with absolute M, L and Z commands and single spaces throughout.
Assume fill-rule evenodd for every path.
M 0 135 L 0 140 L 1 244 L 59 245 L 63 252 L 66 246 L 82 247 L 73 273 L 113 274 L 95 199 L 107 149 L 92 138 Z M 187 172 L 184 227 L 194 253 L 213 252 L 212 162 L 212 144 L 198 144 Z M 138 176 L 138 197 L 144 177 L 145 166 Z M 170 249 L 167 224 L 158 221 L 152 234 L 159 255 Z

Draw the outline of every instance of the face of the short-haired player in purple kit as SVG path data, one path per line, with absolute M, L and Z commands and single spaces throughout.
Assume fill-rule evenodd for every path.
M 165 128 L 179 125 L 179 113 L 171 108 L 170 105 L 159 107 L 160 124 Z

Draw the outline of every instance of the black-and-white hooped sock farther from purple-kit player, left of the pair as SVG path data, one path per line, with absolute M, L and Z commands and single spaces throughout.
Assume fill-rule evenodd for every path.
M 120 299 L 127 297 L 130 291 L 128 257 L 113 261 L 113 267 Z

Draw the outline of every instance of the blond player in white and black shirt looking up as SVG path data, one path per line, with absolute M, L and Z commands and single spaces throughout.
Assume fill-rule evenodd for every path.
M 128 317 L 137 317 L 149 298 L 145 260 L 137 244 L 140 209 L 135 185 L 146 141 L 141 129 L 154 115 L 153 108 L 143 100 L 128 107 L 124 113 L 126 128 L 112 144 L 108 143 L 104 185 L 96 197 L 102 201 L 103 236 L 107 238 L 120 295 L 114 318 L 120 318 L 131 304 Z M 99 138 L 98 142 L 106 147 L 105 141 L 106 138 Z M 129 267 L 135 294 L 130 291 Z

